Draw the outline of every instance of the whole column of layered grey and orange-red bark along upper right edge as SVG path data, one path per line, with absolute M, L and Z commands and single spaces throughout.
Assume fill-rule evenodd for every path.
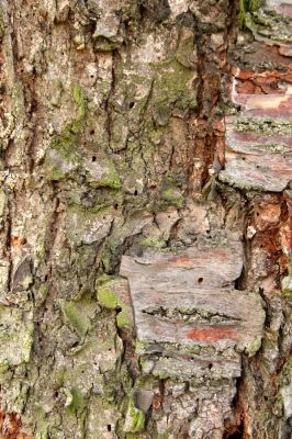
M 245 190 L 281 192 L 292 180 L 291 5 L 269 1 L 254 15 L 256 22 L 247 14 L 246 26 L 255 41 L 245 64 L 232 69 L 232 101 L 240 112 L 225 119 L 220 179 Z

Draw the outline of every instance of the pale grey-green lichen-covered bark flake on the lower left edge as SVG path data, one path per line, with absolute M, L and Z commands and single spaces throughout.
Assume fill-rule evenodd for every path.
M 33 347 L 34 324 L 16 308 L 0 306 L 0 369 L 5 371 L 30 361 Z

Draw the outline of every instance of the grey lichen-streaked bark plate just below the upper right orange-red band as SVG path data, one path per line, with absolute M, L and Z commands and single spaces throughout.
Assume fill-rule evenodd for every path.
M 276 126 L 265 133 L 269 120 L 263 117 L 228 117 L 226 122 L 226 165 L 220 179 L 242 189 L 283 191 L 292 180 L 292 124 L 273 119 Z M 277 125 L 279 133 L 271 134 L 277 133 Z M 247 131 L 240 131 L 245 126 Z

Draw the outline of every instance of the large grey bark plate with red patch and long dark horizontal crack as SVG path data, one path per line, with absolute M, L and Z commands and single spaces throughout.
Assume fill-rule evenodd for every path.
M 199 379 L 215 361 L 209 375 L 226 368 L 225 375 L 238 376 L 237 352 L 258 350 L 265 320 L 259 297 L 233 288 L 242 268 L 239 241 L 123 256 L 121 274 L 130 281 L 141 351 L 167 357 L 155 369 Z

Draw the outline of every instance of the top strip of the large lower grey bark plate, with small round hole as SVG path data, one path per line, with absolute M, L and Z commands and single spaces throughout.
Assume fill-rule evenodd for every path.
M 178 252 L 146 254 L 142 257 L 123 256 L 121 273 L 130 279 L 147 277 L 159 289 L 190 289 L 231 285 L 243 269 L 243 245 L 239 241 L 210 243 L 189 247 Z

